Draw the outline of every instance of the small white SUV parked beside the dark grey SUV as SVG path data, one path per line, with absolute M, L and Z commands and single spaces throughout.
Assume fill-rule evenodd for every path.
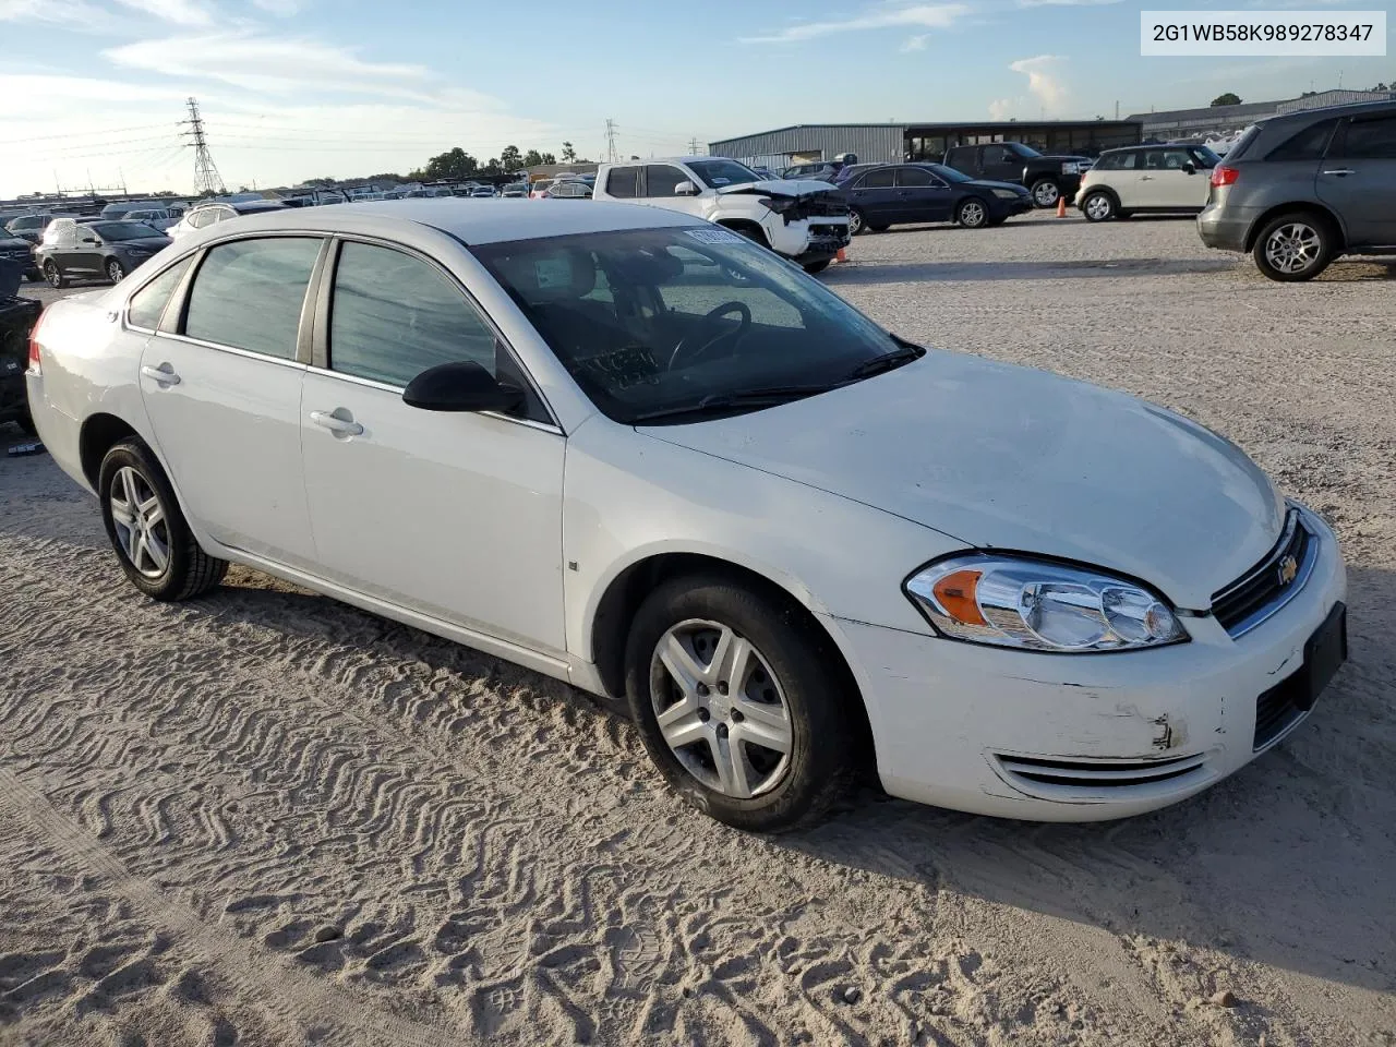
M 1212 169 L 1222 162 L 1205 145 L 1136 145 L 1100 154 L 1076 191 L 1089 222 L 1131 215 L 1195 215 L 1208 202 Z

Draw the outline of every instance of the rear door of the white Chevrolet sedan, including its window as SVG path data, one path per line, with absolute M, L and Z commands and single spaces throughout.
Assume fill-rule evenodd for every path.
M 166 310 L 141 356 L 145 410 L 184 511 L 216 542 L 292 567 L 314 563 L 297 345 L 322 244 L 303 236 L 212 247 L 184 315 Z

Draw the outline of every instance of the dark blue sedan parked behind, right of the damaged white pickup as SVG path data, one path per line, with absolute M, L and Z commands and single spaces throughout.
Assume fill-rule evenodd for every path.
M 906 222 L 955 222 L 966 229 L 1002 225 L 1033 209 L 1012 181 L 980 181 L 940 163 L 888 163 L 839 183 L 853 236 Z

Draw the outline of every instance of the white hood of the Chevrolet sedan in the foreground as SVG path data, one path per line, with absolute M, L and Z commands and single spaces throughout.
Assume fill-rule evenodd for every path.
M 1192 610 L 1255 565 L 1284 518 L 1269 477 L 1202 426 L 1121 392 L 960 353 L 933 350 L 766 410 L 641 431 L 967 546 L 1131 575 Z

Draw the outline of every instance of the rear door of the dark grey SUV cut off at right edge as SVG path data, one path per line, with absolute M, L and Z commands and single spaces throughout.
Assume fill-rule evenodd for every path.
M 1396 246 L 1396 112 L 1351 117 L 1318 172 L 1319 198 L 1353 247 Z

